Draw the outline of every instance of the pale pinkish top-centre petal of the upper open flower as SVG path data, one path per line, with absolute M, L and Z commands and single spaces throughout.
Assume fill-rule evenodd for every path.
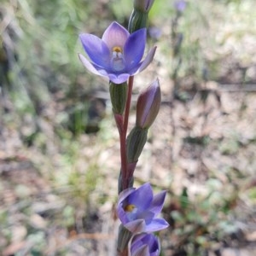
M 108 45 L 108 49 L 112 51 L 115 46 L 124 48 L 125 42 L 129 36 L 130 33 L 124 26 L 113 21 L 103 33 L 102 41 L 104 41 Z

